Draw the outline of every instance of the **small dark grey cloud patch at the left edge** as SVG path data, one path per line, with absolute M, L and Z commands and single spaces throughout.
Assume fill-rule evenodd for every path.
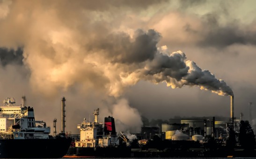
M 23 50 L 22 48 L 7 49 L 0 48 L 0 64 L 6 66 L 7 64 L 18 64 L 23 65 Z

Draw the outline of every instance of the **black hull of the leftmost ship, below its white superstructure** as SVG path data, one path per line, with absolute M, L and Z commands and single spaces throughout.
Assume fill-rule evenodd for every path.
M 66 154 L 70 143 L 71 138 L 0 139 L 0 158 L 61 158 Z

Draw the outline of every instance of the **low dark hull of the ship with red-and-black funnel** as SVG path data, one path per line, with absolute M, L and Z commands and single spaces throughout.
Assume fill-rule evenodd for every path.
M 70 147 L 68 156 L 93 156 L 93 157 L 131 157 L 130 147 Z

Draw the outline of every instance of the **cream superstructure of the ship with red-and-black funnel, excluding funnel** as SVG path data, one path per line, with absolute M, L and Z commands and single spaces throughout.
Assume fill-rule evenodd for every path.
M 85 118 L 77 128 L 80 129 L 80 141 L 75 141 L 75 147 L 108 147 L 119 144 L 116 133 L 105 133 L 104 124 L 98 120 L 99 108 L 94 110 L 94 122 Z

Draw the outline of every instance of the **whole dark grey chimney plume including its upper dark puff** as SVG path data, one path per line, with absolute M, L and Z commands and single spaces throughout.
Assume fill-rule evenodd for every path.
M 138 30 L 133 38 L 117 33 L 102 41 L 92 41 L 97 46 L 93 51 L 99 49 L 114 65 L 123 68 L 122 73 L 128 73 L 128 78 L 125 78 L 132 85 L 145 80 L 165 82 L 172 88 L 199 86 L 200 89 L 211 90 L 219 95 L 233 95 L 223 80 L 216 79 L 208 70 L 200 69 L 195 62 L 187 61 L 182 51 L 169 55 L 157 51 L 160 37 L 160 33 L 151 29 L 147 32 Z

